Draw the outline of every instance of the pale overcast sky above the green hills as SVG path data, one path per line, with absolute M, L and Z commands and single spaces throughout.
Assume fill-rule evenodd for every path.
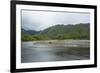
M 22 10 L 22 28 L 27 30 L 43 30 L 57 24 L 89 23 L 89 13 L 50 12 Z

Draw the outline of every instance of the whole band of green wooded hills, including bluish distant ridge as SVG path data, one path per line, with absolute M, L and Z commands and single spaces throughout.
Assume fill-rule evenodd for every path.
M 57 24 L 42 31 L 22 29 L 22 41 L 90 39 L 90 24 Z

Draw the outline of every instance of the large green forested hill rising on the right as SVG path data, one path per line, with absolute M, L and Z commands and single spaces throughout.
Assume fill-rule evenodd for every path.
M 39 35 L 44 35 L 52 39 L 67 39 L 67 38 L 88 38 L 90 35 L 90 24 L 77 24 L 77 25 L 55 25 L 51 26 L 42 32 Z

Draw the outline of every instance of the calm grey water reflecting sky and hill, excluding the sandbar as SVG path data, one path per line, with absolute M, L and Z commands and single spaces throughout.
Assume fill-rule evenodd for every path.
M 89 47 L 52 46 L 33 42 L 22 42 L 21 44 L 22 63 L 86 60 L 89 59 L 89 54 Z

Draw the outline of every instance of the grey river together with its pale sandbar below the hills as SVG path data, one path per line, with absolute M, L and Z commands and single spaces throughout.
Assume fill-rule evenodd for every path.
M 21 44 L 21 62 L 51 62 L 90 59 L 89 40 L 30 41 Z

